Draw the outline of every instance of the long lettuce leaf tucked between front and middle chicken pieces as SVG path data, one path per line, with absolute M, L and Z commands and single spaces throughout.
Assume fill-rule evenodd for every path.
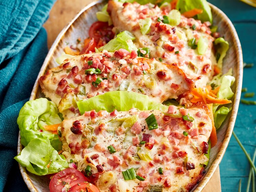
M 77 102 L 77 106 L 81 115 L 85 111 L 91 110 L 112 112 L 115 109 L 117 111 L 129 111 L 131 108 L 138 108 L 139 110 L 164 108 L 163 104 L 152 101 L 147 95 L 128 91 L 110 91 L 89 99 L 80 100 Z

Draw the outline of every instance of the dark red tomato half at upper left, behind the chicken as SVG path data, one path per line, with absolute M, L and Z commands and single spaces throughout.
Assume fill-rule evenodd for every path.
M 114 38 L 112 28 L 113 25 L 109 26 L 108 22 L 96 21 L 89 29 L 89 37 L 94 38 L 96 42 L 99 42 L 101 38 L 103 41 L 108 43 L 112 38 Z

